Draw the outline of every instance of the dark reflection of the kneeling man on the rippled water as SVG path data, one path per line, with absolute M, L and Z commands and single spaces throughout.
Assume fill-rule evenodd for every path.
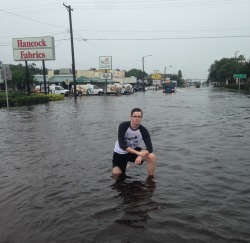
M 145 182 L 117 179 L 111 188 L 118 192 L 116 197 L 121 199 L 120 207 L 124 215 L 116 222 L 133 228 L 145 228 L 149 218 L 148 212 L 157 208 L 152 200 L 155 187 L 152 178 Z

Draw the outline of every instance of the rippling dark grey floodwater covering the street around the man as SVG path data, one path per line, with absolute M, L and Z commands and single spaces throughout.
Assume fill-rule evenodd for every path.
M 141 107 L 157 155 L 111 177 Z M 214 88 L 0 109 L 1 243 L 250 242 L 250 96 Z

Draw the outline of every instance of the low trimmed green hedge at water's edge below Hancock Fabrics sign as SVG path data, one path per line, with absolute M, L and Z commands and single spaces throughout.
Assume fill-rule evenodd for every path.
M 18 94 L 18 93 L 9 93 L 8 94 L 8 101 L 9 106 L 25 106 L 25 105 L 36 105 L 36 104 L 43 104 L 49 101 L 58 101 L 63 100 L 63 95 L 57 94 L 32 94 L 32 95 L 25 95 L 25 94 Z M 6 107 L 6 95 L 5 92 L 0 93 L 0 108 Z

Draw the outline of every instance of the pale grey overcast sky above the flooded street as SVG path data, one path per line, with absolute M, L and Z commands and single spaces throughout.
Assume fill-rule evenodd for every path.
M 250 58 L 250 0 L 9 0 L 0 5 L 0 61 L 13 60 L 12 38 L 54 36 L 56 60 L 46 68 L 71 68 L 71 6 L 77 69 L 113 69 L 206 79 L 215 60 Z M 41 62 L 35 62 L 41 67 Z M 24 63 L 23 63 L 24 65 Z M 169 67 L 172 66 L 172 67 Z

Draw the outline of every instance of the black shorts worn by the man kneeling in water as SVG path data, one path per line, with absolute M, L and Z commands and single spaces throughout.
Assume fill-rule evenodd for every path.
M 142 149 L 140 147 L 137 147 L 135 148 L 135 150 L 141 151 Z M 125 174 L 128 162 L 135 162 L 137 157 L 138 155 L 136 154 L 131 154 L 131 153 L 118 154 L 114 152 L 113 153 L 113 168 L 118 166 L 121 169 L 122 174 Z

